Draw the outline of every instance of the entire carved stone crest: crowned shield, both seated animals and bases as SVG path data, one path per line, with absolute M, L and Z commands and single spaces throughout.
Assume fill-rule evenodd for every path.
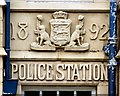
M 45 31 L 42 25 L 42 15 L 37 16 L 37 27 L 34 30 L 36 40 L 31 44 L 32 50 L 55 50 L 56 47 L 63 47 L 65 51 L 86 51 L 89 44 L 84 42 L 86 31 L 84 29 L 84 16 L 78 16 L 78 25 L 75 31 L 70 35 L 72 21 L 68 19 L 68 13 L 59 11 L 53 13 L 51 19 L 51 33 Z M 71 36 L 71 37 L 70 37 Z

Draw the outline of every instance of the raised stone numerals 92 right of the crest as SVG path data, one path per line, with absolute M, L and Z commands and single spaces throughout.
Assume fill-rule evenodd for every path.
M 93 23 L 89 31 L 94 34 L 90 37 L 91 40 L 96 40 L 101 31 L 104 31 L 104 32 L 100 35 L 99 40 L 105 41 L 108 39 L 108 37 L 106 36 L 109 32 L 109 27 L 107 24 L 102 24 L 102 26 L 99 27 L 96 23 Z

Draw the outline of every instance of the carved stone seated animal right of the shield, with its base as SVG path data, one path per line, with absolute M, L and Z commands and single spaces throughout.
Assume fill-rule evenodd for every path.
M 84 43 L 86 31 L 84 29 L 84 16 L 78 16 L 79 24 L 76 25 L 75 31 L 71 35 L 70 43 L 65 47 L 66 51 L 85 51 L 89 49 L 89 44 Z

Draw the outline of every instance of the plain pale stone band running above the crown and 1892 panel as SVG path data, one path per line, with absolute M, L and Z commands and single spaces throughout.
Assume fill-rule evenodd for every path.
M 11 2 L 11 11 L 56 11 L 73 12 L 109 12 L 109 2 L 80 3 L 80 2 Z

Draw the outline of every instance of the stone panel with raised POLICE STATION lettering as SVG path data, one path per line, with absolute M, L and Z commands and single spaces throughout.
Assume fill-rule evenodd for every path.
M 11 62 L 11 68 L 11 79 L 33 81 L 33 84 L 39 81 L 94 84 L 108 80 L 107 65 L 100 62 Z

